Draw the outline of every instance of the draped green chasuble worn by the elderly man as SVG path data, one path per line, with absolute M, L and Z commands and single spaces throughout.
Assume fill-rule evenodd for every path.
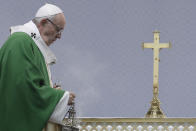
M 0 49 L 0 131 L 41 131 L 63 94 L 32 38 L 12 34 Z

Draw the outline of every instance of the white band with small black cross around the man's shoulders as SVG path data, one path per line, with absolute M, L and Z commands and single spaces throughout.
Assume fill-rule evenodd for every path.
M 35 42 L 35 44 L 40 49 L 41 53 L 44 56 L 44 59 L 47 64 L 51 65 L 56 63 L 56 57 L 54 53 L 50 50 L 50 48 L 46 45 L 44 40 L 42 39 L 37 26 L 32 22 L 29 21 L 24 25 L 19 26 L 12 26 L 10 27 L 11 34 L 15 32 L 25 32 L 27 33 Z

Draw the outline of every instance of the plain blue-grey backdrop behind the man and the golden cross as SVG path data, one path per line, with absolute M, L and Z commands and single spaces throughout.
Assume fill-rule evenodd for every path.
M 45 3 L 0 1 L 0 46 L 9 27 L 33 19 Z M 143 117 L 152 99 L 153 52 L 160 42 L 161 108 L 168 117 L 196 117 L 195 0 L 48 0 L 65 12 L 67 25 L 51 48 L 58 62 L 53 81 L 77 95 L 80 117 Z

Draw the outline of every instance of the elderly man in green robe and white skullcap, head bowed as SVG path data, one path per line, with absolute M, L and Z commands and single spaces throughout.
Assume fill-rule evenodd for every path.
M 0 131 L 41 131 L 48 121 L 62 122 L 75 95 L 53 86 L 49 66 L 56 57 L 48 46 L 64 27 L 63 11 L 52 4 L 11 27 L 0 49 Z

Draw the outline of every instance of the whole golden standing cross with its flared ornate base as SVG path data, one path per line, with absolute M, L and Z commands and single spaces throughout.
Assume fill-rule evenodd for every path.
M 159 43 L 159 31 L 154 33 L 154 43 L 142 43 L 142 48 L 152 48 L 154 51 L 154 64 L 153 64 L 153 99 L 151 102 L 151 107 L 146 114 L 148 118 L 164 118 L 163 111 L 160 108 L 160 101 L 158 98 L 159 94 L 159 51 L 161 48 L 170 48 L 171 43 Z

